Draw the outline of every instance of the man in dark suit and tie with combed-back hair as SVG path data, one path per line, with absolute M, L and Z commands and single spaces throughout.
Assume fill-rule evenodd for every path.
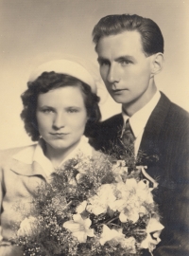
M 109 15 L 94 27 L 93 37 L 101 77 L 122 113 L 98 124 L 92 144 L 112 149 L 129 123 L 135 155 L 158 155 L 142 160 L 159 183 L 154 196 L 164 229 L 154 256 L 189 255 L 189 115 L 154 81 L 163 67 L 162 32 L 138 15 Z

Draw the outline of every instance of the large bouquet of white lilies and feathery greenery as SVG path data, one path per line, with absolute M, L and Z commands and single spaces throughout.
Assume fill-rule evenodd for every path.
M 157 183 L 133 159 L 80 153 L 56 170 L 17 231 L 24 255 L 151 253 L 163 229 L 151 193 Z

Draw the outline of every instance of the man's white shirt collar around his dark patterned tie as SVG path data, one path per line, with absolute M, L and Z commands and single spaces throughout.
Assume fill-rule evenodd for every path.
M 152 99 L 148 101 L 143 108 L 134 113 L 134 115 L 130 118 L 126 115 L 125 112 L 122 111 L 124 124 L 126 123 L 127 119 L 129 119 L 129 124 L 135 137 L 138 137 L 141 131 L 145 129 L 146 122 L 149 119 L 153 109 L 157 105 L 160 98 L 160 91 L 157 90 Z

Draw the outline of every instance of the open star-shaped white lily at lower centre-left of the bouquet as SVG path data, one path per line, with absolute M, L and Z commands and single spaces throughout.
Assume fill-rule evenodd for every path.
M 94 229 L 89 229 L 92 221 L 88 218 L 83 220 L 80 214 L 74 214 L 73 220 L 66 221 L 63 228 L 69 229 L 73 236 L 77 237 L 78 242 L 85 243 L 87 236 L 94 236 Z

